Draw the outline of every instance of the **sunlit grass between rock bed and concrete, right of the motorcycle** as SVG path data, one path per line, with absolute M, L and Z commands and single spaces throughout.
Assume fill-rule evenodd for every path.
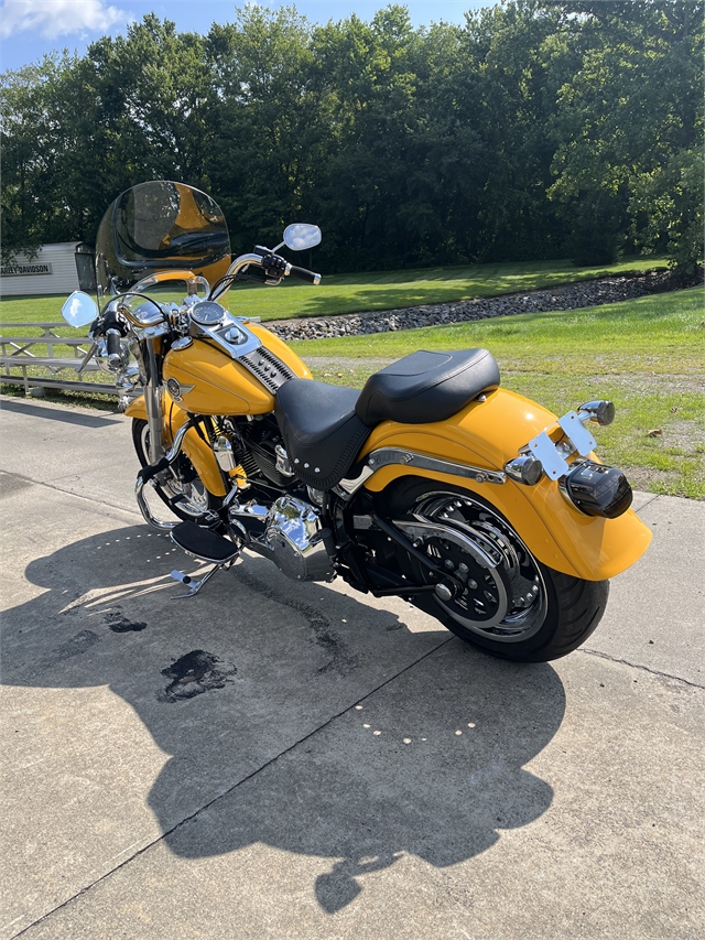
M 705 292 L 692 288 L 565 313 L 519 314 L 371 336 L 292 343 L 315 378 L 360 387 L 415 349 L 482 346 L 506 388 L 558 414 L 609 398 L 603 461 L 652 493 L 705 498 Z M 654 436 L 649 431 L 660 431 Z

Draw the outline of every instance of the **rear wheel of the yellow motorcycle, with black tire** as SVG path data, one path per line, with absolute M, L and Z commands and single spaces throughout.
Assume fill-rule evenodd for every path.
M 599 624 L 609 583 L 542 564 L 511 523 L 476 494 L 408 478 L 384 504 L 392 520 L 437 525 L 415 531 L 414 545 L 452 575 L 456 590 L 452 597 L 416 595 L 414 603 L 465 642 L 502 659 L 546 662 L 572 652 Z M 443 580 L 403 550 L 397 557 L 410 580 Z M 494 566 L 481 559 L 491 559 Z

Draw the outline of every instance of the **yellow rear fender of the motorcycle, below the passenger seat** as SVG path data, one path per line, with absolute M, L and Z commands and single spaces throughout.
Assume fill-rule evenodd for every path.
M 375 428 L 360 456 L 378 447 L 402 447 L 501 471 L 520 447 L 555 421 L 556 415 L 542 406 L 498 389 L 486 401 L 471 402 L 447 421 L 433 424 L 384 421 Z M 617 519 L 584 516 L 564 499 L 557 484 L 545 476 L 535 486 L 509 478 L 497 485 L 390 465 L 377 471 L 365 486 L 380 491 L 408 475 L 459 484 L 477 493 L 511 522 L 539 561 L 586 581 L 603 581 L 625 571 L 641 558 L 651 541 L 651 531 L 631 509 Z

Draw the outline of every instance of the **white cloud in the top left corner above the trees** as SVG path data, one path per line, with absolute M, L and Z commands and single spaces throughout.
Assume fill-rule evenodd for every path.
M 3 40 L 28 30 L 50 40 L 68 33 L 105 33 L 132 20 L 130 13 L 104 0 L 4 0 L 0 13 Z

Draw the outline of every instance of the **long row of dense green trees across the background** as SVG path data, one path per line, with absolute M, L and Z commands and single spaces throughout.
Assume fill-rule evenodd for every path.
M 701 257 L 703 0 L 403 7 L 312 25 L 154 14 L 2 76 L 3 251 L 91 238 L 122 190 L 223 205 L 236 250 L 315 220 L 326 270 Z

